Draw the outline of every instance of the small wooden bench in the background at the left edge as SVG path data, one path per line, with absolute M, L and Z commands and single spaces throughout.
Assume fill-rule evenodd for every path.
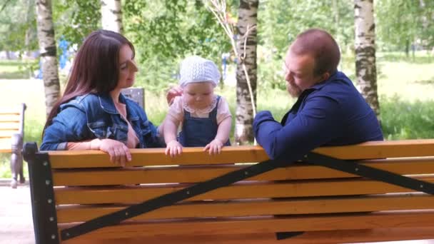
M 11 153 L 11 187 L 16 188 L 17 181 L 24 183 L 23 149 L 24 111 L 26 104 L 0 108 L 0 153 Z

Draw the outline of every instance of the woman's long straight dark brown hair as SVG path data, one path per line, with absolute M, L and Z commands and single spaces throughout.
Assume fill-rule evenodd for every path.
M 123 45 L 128 45 L 135 55 L 133 44 L 114 31 L 94 31 L 86 37 L 74 59 L 64 95 L 49 113 L 44 131 L 59 113 L 61 104 L 76 96 L 109 93 L 116 88 L 119 77 L 119 50 Z

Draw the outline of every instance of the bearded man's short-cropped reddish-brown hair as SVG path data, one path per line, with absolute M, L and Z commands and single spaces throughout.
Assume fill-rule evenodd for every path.
M 298 34 L 291 51 L 296 55 L 312 55 L 315 60 L 313 74 L 316 76 L 325 72 L 332 75 L 338 70 L 340 61 L 339 46 L 327 31 L 308 29 Z

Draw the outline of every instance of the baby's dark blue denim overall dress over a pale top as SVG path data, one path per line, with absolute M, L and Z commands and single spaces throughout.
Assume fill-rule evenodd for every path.
M 182 131 L 179 133 L 178 141 L 182 146 L 206 146 L 214 140 L 217 135 L 217 108 L 220 96 L 217 96 L 216 107 L 209 113 L 208 118 L 194 118 L 191 113 L 184 109 L 184 120 Z M 226 141 L 224 146 L 231 146 Z

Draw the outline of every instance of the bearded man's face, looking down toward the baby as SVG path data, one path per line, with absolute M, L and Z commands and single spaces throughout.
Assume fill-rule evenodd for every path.
M 288 93 L 298 97 L 301 93 L 322 80 L 321 76 L 313 75 L 315 60 L 309 54 L 296 55 L 288 49 L 284 63 L 285 80 Z

